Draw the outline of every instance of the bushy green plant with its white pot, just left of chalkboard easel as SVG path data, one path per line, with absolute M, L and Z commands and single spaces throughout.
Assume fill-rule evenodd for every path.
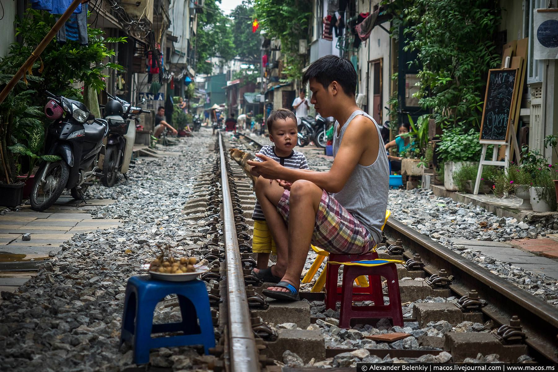
M 462 128 L 453 128 L 442 134 L 442 139 L 436 151 L 444 162 L 444 187 L 446 190 L 457 191 L 458 186 L 453 180 L 453 175 L 461 167 L 473 165 L 480 159 L 482 149 L 479 143 L 479 133 L 470 129 L 463 134 Z

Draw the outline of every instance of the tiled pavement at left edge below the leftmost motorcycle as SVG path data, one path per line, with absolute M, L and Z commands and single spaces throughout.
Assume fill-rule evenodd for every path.
M 0 216 L 0 291 L 15 292 L 35 275 L 33 271 L 5 271 L 13 262 L 28 265 L 31 259 L 51 259 L 49 252 L 59 252 L 60 244 L 74 234 L 115 228 L 121 224 L 120 220 L 93 219 L 87 212 L 114 202 L 116 200 L 103 199 L 88 200 L 84 204 L 62 196 L 44 212 L 35 212 L 26 205 L 21 211 Z M 26 233 L 31 234 L 31 240 L 22 240 Z

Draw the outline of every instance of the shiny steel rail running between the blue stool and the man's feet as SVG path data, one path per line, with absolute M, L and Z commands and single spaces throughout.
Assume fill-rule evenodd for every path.
M 225 236 L 225 261 L 227 267 L 228 345 L 232 372 L 257 372 L 259 359 L 256 339 L 252 331 L 242 260 L 238 248 L 237 230 L 234 224 L 233 202 L 230 197 L 227 168 L 223 151 L 223 139 L 219 132 L 219 156 L 221 164 L 221 188 L 223 191 L 223 225 Z

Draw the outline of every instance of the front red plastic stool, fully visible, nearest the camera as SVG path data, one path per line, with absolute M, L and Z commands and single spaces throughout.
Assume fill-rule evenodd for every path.
M 353 306 L 355 300 L 353 281 L 355 278 L 365 275 L 372 276 L 374 286 L 381 281 L 381 276 L 387 279 L 389 305 L 383 303 L 382 286 L 379 286 L 378 294 L 382 296 L 380 302 L 374 301 L 374 306 Z M 399 279 L 395 263 L 388 263 L 374 267 L 345 265 L 343 269 L 343 294 L 341 297 L 341 312 L 339 314 L 339 327 L 349 328 L 351 319 L 362 318 L 391 318 L 394 326 L 403 326 L 403 312 L 401 311 L 401 296 L 399 292 Z

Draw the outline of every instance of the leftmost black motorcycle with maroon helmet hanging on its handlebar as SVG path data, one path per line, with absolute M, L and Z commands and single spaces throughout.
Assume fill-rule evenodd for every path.
M 46 154 L 59 160 L 53 157 L 42 162 L 35 175 L 30 202 L 36 211 L 49 208 L 64 189 L 70 189 L 74 199 L 83 200 L 96 176 L 99 153 L 108 134 L 107 120 L 95 119 L 83 103 L 46 93 L 45 115 L 54 120 L 47 133 Z

